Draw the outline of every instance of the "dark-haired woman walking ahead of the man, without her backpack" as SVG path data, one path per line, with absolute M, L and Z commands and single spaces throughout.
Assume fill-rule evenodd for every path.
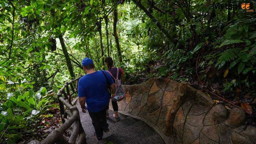
M 121 81 L 120 84 L 122 84 L 124 82 L 124 72 L 123 72 L 122 68 L 114 67 L 113 60 L 111 57 L 106 57 L 105 62 L 106 62 L 106 66 L 108 67 L 107 72 L 109 73 L 109 75 L 111 76 L 113 81 L 115 82 L 117 80 L 120 80 Z M 117 101 L 112 100 L 112 106 L 113 106 L 113 110 L 114 110 L 113 117 L 115 118 L 116 121 L 119 121 Z M 107 117 L 108 116 L 109 116 L 109 110 L 107 109 Z

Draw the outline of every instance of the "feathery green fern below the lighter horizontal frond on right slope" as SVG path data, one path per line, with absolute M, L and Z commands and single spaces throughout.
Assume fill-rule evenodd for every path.
M 220 69 L 225 65 L 226 62 L 233 61 L 237 57 L 241 55 L 239 48 L 235 49 L 227 49 L 223 51 L 221 54 L 219 54 L 218 62 L 216 63 L 215 67 L 218 67 Z

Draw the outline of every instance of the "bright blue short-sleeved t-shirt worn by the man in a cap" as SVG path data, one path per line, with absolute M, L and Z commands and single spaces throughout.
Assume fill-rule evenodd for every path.
M 113 84 L 111 76 L 106 74 L 109 85 Z M 86 74 L 78 81 L 78 96 L 86 97 L 87 109 L 96 113 L 102 111 L 109 105 L 109 90 L 107 80 L 101 71 Z

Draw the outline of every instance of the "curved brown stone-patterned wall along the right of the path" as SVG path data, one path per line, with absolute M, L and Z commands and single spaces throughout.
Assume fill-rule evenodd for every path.
M 256 143 L 256 128 L 244 127 L 243 109 L 227 111 L 186 83 L 153 78 L 123 88 L 125 99 L 118 102 L 119 112 L 143 120 L 166 143 Z

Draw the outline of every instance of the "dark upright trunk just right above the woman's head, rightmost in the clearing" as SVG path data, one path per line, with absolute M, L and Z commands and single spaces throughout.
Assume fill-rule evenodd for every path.
M 121 55 L 121 50 L 120 50 L 120 45 L 119 45 L 119 39 L 118 39 L 117 31 L 116 31 L 117 19 L 118 19 L 118 13 L 117 13 L 117 7 L 116 7 L 115 10 L 114 10 L 114 24 L 113 24 L 114 37 L 115 37 L 115 43 L 116 43 L 116 48 L 117 48 L 119 61 L 123 62 L 122 55 Z

